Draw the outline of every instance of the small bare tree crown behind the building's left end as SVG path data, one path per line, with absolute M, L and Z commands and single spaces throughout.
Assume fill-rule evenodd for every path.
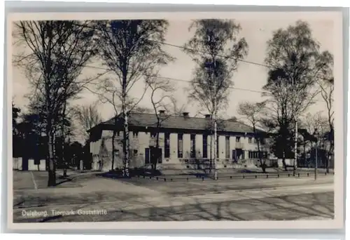
M 89 138 L 87 131 L 103 121 L 101 114 L 99 114 L 97 102 L 75 107 L 74 115 L 80 126 L 80 134 L 84 136 L 85 140 Z

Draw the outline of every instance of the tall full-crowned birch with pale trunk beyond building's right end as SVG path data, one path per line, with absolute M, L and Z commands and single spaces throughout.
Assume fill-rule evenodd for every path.
M 279 127 L 286 132 L 292 122 L 295 126 L 295 174 L 298 117 L 313 104 L 318 94 L 314 86 L 322 69 L 326 67 L 324 53 L 320 53 L 318 42 L 312 37 L 307 22 L 299 20 L 295 25 L 274 32 L 272 39 L 267 42 L 265 62 L 271 71 L 264 90 L 271 97 Z

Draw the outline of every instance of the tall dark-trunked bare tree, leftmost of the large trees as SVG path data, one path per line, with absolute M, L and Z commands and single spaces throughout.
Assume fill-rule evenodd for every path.
M 40 95 L 48 136 L 48 186 L 55 186 L 55 131 L 57 116 L 64 103 L 79 93 L 78 76 L 94 55 L 94 31 L 78 21 L 20 21 L 15 22 L 16 44 L 24 44 L 30 53 L 15 56 L 15 63 L 25 70 Z M 86 84 L 83 83 L 83 84 Z

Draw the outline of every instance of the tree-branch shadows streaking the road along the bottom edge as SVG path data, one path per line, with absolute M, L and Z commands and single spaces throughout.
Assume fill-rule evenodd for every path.
M 104 196 L 101 195 L 102 199 Z M 263 199 L 234 200 L 167 207 L 148 204 L 146 208 L 125 210 L 118 208 L 107 215 L 59 215 L 37 219 L 36 222 L 111 222 L 111 221 L 188 221 L 188 220 L 297 220 L 300 218 L 333 218 L 334 193 L 298 194 L 290 196 L 267 196 Z M 144 204 L 135 202 L 133 204 Z M 84 208 L 94 208 L 88 201 Z M 79 207 L 76 207 L 78 209 Z M 15 219 L 15 217 L 14 217 Z M 16 222 L 16 220 L 15 220 Z M 25 222 L 20 220 L 19 222 Z M 28 221 L 27 221 L 28 222 Z

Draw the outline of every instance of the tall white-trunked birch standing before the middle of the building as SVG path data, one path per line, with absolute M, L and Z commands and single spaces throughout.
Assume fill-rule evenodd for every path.
M 228 105 L 232 76 L 239 60 L 248 54 L 248 44 L 238 38 L 241 26 L 234 20 L 194 20 L 189 31 L 193 29 L 193 37 L 183 48 L 196 63 L 189 98 L 210 114 L 211 135 L 216 135 L 217 113 Z M 212 146 L 213 138 L 210 142 Z

